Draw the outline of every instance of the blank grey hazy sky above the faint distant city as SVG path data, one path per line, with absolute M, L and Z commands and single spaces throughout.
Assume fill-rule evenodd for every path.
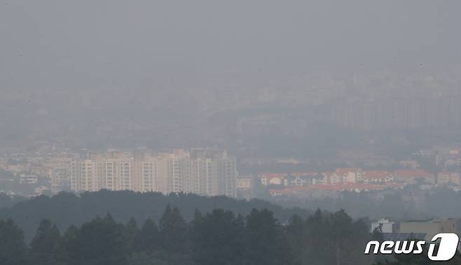
M 0 89 L 219 84 L 461 62 L 457 0 L 0 3 Z

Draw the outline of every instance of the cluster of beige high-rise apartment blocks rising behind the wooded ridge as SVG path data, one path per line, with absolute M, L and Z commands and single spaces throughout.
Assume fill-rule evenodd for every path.
M 92 155 L 70 166 L 74 191 L 134 190 L 235 196 L 236 159 L 226 151 L 195 148 L 156 156 Z

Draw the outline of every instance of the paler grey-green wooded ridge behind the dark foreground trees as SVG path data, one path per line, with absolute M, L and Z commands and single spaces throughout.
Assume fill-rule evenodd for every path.
M 236 200 L 226 196 L 205 197 L 195 194 L 163 195 L 155 192 L 137 193 L 131 191 L 85 192 L 80 195 L 60 193 L 52 197 L 38 196 L 27 201 L 15 203 L 10 208 L 0 209 L 0 219 L 11 218 L 24 231 L 27 241 L 32 239 L 39 222 L 48 219 L 57 229 L 65 231 L 72 224 L 81 225 L 97 216 L 111 213 L 117 222 L 128 222 L 131 217 L 138 222 L 151 218 L 159 220 L 167 205 L 177 207 L 184 219 L 193 219 L 194 211 L 209 213 L 214 208 L 231 210 L 235 214 L 247 215 L 253 208 L 272 211 L 282 223 L 297 214 L 307 217 L 308 210 L 301 208 L 282 208 L 267 201 Z

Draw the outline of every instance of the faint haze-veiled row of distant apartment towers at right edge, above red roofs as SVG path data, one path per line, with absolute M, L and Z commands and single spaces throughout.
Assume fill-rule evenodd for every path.
M 331 108 L 331 121 L 360 131 L 457 128 L 461 125 L 460 100 L 457 95 L 339 101 Z

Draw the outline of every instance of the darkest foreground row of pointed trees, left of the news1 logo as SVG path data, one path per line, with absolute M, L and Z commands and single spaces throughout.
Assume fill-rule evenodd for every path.
M 243 216 L 217 208 L 195 210 L 186 222 L 171 206 L 141 225 L 108 213 L 61 233 L 42 220 L 29 244 L 13 220 L 1 220 L 0 236 L 0 264 L 10 265 L 369 264 L 362 247 L 371 239 L 366 224 L 343 210 L 281 224 L 267 209 Z

